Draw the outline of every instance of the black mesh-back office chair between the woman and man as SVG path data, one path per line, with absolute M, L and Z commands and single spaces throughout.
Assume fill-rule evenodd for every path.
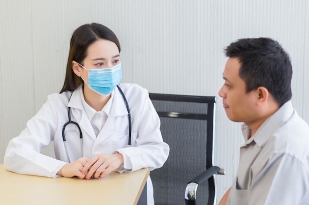
M 215 97 L 150 93 L 150 98 L 170 146 L 163 167 L 150 173 L 154 204 L 214 205 L 213 175 L 224 174 L 212 165 Z

